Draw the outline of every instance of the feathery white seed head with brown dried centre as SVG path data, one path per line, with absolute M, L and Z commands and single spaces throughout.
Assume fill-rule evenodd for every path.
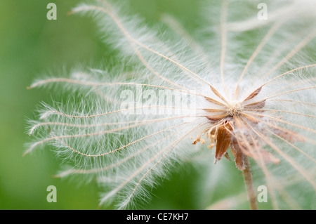
M 169 15 L 159 33 L 107 1 L 73 8 L 96 19 L 121 64 L 34 81 L 29 88 L 75 94 L 43 105 L 25 153 L 50 143 L 72 166 L 57 176 L 96 176 L 108 190 L 100 204 L 114 199 L 119 208 L 148 199 L 146 186 L 175 164 L 213 152 L 217 163 L 234 157 L 256 209 L 250 158 L 274 209 L 301 206 L 299 184 L 316 189 L 316 4 L 268 1 L 268 20 L 258 19 L 258 4 L 212 2 L 198 41 Z

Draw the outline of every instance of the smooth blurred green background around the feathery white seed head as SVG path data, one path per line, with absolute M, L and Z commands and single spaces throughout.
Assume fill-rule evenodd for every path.
M 47 20 L 46 6 L 57 5 L 57 20 Z M 41 101 L 51 102 L 55 93 L 43 88 L 26 87 L 40 74 L 62 67 L 71 68 L 112 57 L 113 51 L 101 43 L 91 18 L 67 15 L 75 0 L 1 0 L 0 1 L 0 209 L 98 209 L 98 185 L 78 185 L 76 181 L 53 178 L 60 161 L 48 148 L 22 157 L 27 118 Z M 195 28 L 200 1 L 131 0 L 125 1 L 131 14 L 138 14 L 149 24 L 162 13 L 180 18 Z M 210 161 L 213 163 L 213 161 Z M 207 201 L 201 190 L 205 176 L 201 167 L 187 166 L 173 173 L 156 190 L 150 204 L 142 209 L 205 209 L 216 200 L 243 191 L 243 180 L 233 163 L 223 162 L 233 176 L 223 176 Z M 232 183 L 234 183 L 232 185 Z M 57 203 L 48 203 L 46 188 L 57 187 Z M 244 204 L 239 209 L 247 209 Z M 112 209 L 102 207 L 101 209 Z

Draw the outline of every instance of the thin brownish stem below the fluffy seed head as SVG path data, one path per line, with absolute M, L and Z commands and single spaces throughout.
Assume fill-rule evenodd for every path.
M 242 171 L 242 174 L 244 176 L 244 183 L 246 184 L 246 190 L 248 193 L 250 209 L 258 210 L 257 197 L 256 197 L 256 192 L 254 190 L 254 182 L 251 176 L 249 159 L 246 156 L 244 157 L 244 166 L 245 166 L 245 169 Z

